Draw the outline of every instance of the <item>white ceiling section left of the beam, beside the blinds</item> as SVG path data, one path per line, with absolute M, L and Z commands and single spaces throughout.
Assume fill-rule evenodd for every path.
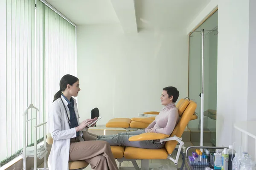
M 110 0 L 47 0 L 76 25 L 119 23 Z

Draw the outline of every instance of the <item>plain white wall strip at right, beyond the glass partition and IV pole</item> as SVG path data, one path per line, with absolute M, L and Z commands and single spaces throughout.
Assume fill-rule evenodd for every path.
M 217 145 L 238 142 L 233 123 L 247 120 L 248 28 L 249 0 L 219 1 Z

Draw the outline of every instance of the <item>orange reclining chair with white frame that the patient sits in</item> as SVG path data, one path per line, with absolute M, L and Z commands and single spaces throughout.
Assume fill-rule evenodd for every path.
M 141 170 L 149 170 L 149 159 L 170 159 L 175 163 L 175 165 L 177 165 L 179 156 L 182 154 L 183 163 L 180 168 L 180 170 L 182 170 L 185 164 L 185 159 L 184 154 L 181 152 L 181 148 L 184 144 L 181 135 L 183 134 L 197 107 L 197 104 L 192 100 L 184 100 L 183 102 L 188 102 L 188 105 L 180 116 L 180 120 L 171 135 L 161 133 L 143 133 L 129 138 L 129 141 L 160 139 L 160 142 L 166 141 L 165 147 L 161 149 L 143 149 L 137 147 L 111 146 L 115 159 L 117 159 L 119 162 L 131 161 L 136 170 L 139 170 L 136 160 L 141 159 Z M 176 145 L 178 142 L 179 147 L 177 149 Z M 171 154 L 175 149 L 177 150 L 177 155 L 176 158 L 173 159 Z

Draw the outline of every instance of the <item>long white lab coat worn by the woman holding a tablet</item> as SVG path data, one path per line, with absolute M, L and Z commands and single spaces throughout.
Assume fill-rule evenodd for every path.
M 61 102 L 64 102 L 64 105 Z M 74 99 L 74 110 L 76 113 L 77 122 L 79 122 L 79 113 L 77 109 L 76 99 Z M 70 118 L 68 103 L 63 96 L 52 102 L 52 106 L 48 113 L 49 133 L 52 135 L 53 144 L 48 159 L 49 170 L 69 170 L 69 152 L 70 139 L 76 137 L 76 128 L 70 129 L 68 118 Z M 67 118 L 68 115 L 68 118 Z M 79 139 L 82 141 L 82 133 L 80 131 Z

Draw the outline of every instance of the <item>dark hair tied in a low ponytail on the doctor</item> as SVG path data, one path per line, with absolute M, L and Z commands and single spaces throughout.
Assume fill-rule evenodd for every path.
M 53 102 L 61 97 L 62 91 L 67 88 L 67 85 L 73 85 L 77 81 L 79 81 L 79 79 L 70 74 L 66 74 L 65 76 L 63 76 L 60 81 L 60 90 L 57 91 L 57 93 L 54 95 Z

